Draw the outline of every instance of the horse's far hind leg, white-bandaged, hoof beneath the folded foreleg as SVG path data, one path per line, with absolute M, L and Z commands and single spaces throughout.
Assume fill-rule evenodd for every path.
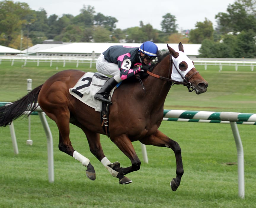
M 120 168 L 120 163 L 119 162 L 114 162 L 111 163 L 108 158 L 104 155 L 103 153 L 103 149 L 100 143 L 100 134 L 92 132 L 87 130 L 86 128 L 79 126 L 85 133 L 88 143 L 89 143 L 89 147 L 90 147 L 90 151 L 92 152 L 92 154 L 94 154 L 94 156 L 104 165 L 104 167 L 110 172 L 110 174 L 113 177 L 119 178 L 119 183 L 120 184 L 128 184 L 128 183 L 132 183 L 132 180 L 130 180 L 129 178 L 121 175 L 118 171 L 116 171 L 116 167 Z

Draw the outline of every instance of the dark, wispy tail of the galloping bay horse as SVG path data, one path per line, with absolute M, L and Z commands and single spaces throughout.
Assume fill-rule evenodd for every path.
M 38 94 L 42 86 L 34 88 L 21 99 L 0 107 L 0 126 L 10 125 L 13 120 L 23 115 L 24 111 L 31 111 L 27 116 L 35 111 Z

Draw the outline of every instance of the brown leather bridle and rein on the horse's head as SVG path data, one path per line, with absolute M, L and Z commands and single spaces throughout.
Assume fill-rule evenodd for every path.
M 174 84 L 177 84 L 177 85 L 183 85 L 183 86 L 186 86 L 188 88 L 188 91 L 189 92 L 192 92 L 194 90 L 194 87 L 192 86 L 191 82 L 189 82 L 188 80 L 190 80 L 195 74 L 199 73 L 198 71 L 195 71 L 193 72 L 193 74 L 191 74 L 189 77 L 186 77 L 185 78 L 183 77 L 183 75 L 180 73 L 180 71 L 177 69 L 177 67 L 175 66 L 175 64 L 173 63 L 173 60 L 172 60 L 172 55 L 169 54 L 169 60 L 170 60 L 170 65 L 169 65 L 169 72 L 168 72 L 168 78 L 166 77 L 162 77 L 160 75 L 156 75 L 150 71 L 147 71 L 147 73 L 149 75 L 151 75 L 152 77 L 155 77 L 155 78 L 158 78 L 158 79 L 162 79 L 162 80 L 166 80 L 168 82 L 170 82 L 170 85 L 173 86 Z M 179 82 L 179 81 L 176 81 L 176 80 L 172 80 L 170 79 L 169 77 L 171 76 L 171 68 L 172 68 L 172 65 L 174 65 L 175 69 L 177 70 L 177 72 L 180 74 L 181 78 L 183 79 L 183 82 Z M 172 69 L 173 70 L 173 69 Z

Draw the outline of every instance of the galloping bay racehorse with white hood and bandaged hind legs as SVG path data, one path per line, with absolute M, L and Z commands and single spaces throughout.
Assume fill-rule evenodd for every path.
M 120 184 L 131 183 L 125 175 L 140 169 L 140 159 L 133 141 L 145 145 L 167 147 L 174 151 L 176 178 L 170 185 L 176 191 L 183 175 L 181 148 L 179 144 L 158 130 L 163 119 L 164 101 L 173 84 L 183 84 L 196 94 L 204 93 L 208 83 L 196 71 L 193 62 L 184 54 L 182 43 L 179 51 L 168 46 L 168 55 L 159 57 L 147 75 L 137 80 L 125 80 L 116 88 L 109 106 L 110 139 L 131 160 L 131 166 L 120 167 L 111 163 L 104 155 L 100 134 L 106 135 L 101 127 L 100 112 L 84 104 L 69 93 L 77 81 L 86 73 L 79 70 L 64 70 L 50 77 L 23 98 L 0 108 L 0 126 L 6 126 L 20 117 L 24 111 L 35 111 L 37 102 L 59 130 L 59 149 L 74 157 L 87 167 L 86 175 L 95 180 L 96 174 L 90 160 L 75 151 L 69 138 L 69 123 L 81 128 L 88 140 L 92 154 L 108 169 Z M 175 73 L 174 73 L 175 71 Z M 182 80 L 180 82 L 180 80 Z M 142 87 L 142 86 L 144 87 Z

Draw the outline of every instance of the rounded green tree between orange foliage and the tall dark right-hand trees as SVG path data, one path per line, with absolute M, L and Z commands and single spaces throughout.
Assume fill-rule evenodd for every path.
M 210 20 L 205 18 L 204 22 L 196 22 L 196 29 L 190 30 L 190 43 L 201 43 L 204 39 L 213 40 L 213 26 Z

